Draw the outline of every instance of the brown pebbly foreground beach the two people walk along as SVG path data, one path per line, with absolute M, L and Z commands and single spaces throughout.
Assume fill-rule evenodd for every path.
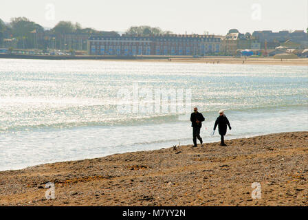
M 0 172 L 0 206 L 308 206 L 308 131 Z M 55 199 L 45 184 L 54 183 Z M 252 184 L 261 198 L 252 198 Z

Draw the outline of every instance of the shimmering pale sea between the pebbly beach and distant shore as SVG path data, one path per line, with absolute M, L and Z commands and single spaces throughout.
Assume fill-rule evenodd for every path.
M 308 67 L 130 61 L 0 59 L 0 170 L 192 144 L 180 113 L 119 113 L 120 89 L 192 91 L 210 136 L 217 111 L 226 139 L 308 131 Z

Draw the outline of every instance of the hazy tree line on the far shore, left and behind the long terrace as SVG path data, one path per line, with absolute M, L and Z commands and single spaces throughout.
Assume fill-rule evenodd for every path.
M 170 31 L 163 31 L 160 28 L 150 26 L 133 26 L 126 30 L 124 34 L 149 36 L 157 34 L 170 34 Z M 71 37 L 67 37 L 70 35 Z M 41 25 L 30 21 L 25 17 L 10 19 L 10 23 L 4 23 L 0 19 L 0 47 L 4 44 L 4 39 L 14 39 L 15 47 L 19 49 L 74 49 L 85 50 L 86 41 L 72 36 L 120 36 L 118 32 L 99 31 L 94 28 L 82 28 L 80 23 L 71 21 L 59 21 L 51 30 L 45 30 Z

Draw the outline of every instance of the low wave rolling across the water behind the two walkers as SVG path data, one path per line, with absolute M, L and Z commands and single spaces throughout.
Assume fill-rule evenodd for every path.
M 195 104 L 195 106 L 201 107 L 202 104 Z M 228 108 L 228 105 L 225 106 L 225 111 L 228 111 L 228 115 L 241 115 L 243 113 L 249 112 L 251 113 L 272 113 L 272 112 L 295 112 L 303 110 L 304 114 L 307 114 L 308 105 L 277 105 L 277 106 L 263 106 L 263 107 L 245 107 L 245 105 L 236 108 Z M 204 109 L 204 108 L 203 108 Z M 217 109 L 218 110 L 218 109 Z M 206 118 L 215 118 L 217 116 L 217 110 L 205 110 L 201 111 Z M 179 120 L 179 116 L 184 116 L 183 113 L 173 113 L 173 114 L 160 114 L 160 115 L 143 115 L 143 114 L 129 114 L 129 115 L 115 115 L 115 117 L 109 118 L 100 118 L 99 120 L 86 120 L 86 121 L 78 121 L 76 118 L 75 122 L 72 120 L 67 120 L 64 122 L 38 122 L 37 124 L 14 124 L 12 122 L 7 122 L 7 124 L 11 124 L 11 126 L 5 126 L 5 122 L 1 121 L 2 126 L 0 126 L 0 133 L 6 132 L 19 132 L 19 131 L 50 131 L 50 129 L 58 130 L 58 129 L 75 129 L 75 128 L 82 128 L 82 127 L 95 127 L 95 126 L 104 126 L 104 127 L 111 127 L 111 126 L 137 126 L 137 125 L 146 125 L 146 124 L 164 124 L 164 123 L 178 123 L 184 122 L 189 123 L 189 115 L 185 115 L 185 120 L 181 118 Z M 93 115 L 94 118 L 96 115 Z M 16 122 L 18 123 L 18 122 Z M 25 123 L 25 122 L 24 122 Z

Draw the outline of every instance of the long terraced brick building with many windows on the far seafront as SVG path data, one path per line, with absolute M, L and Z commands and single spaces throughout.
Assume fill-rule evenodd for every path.
M 160 36 L 91 36 L 87 46 L 89 55 L 107 56 L 194 56 L 217 54 L 221 38 L 212 35 Z

